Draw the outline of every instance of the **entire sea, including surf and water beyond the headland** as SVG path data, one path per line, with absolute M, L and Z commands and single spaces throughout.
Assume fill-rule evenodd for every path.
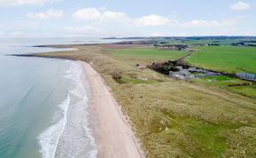
M 96 157 L 82 67 L 65 59 L 14 57 L 42 44 L 112 43 L 87 37 L 0 38 L 0 158 Z

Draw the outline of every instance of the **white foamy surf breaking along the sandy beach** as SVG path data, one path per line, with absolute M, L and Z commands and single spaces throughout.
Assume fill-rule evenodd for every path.
M 98 152 L 92 130 L 89 128 L 83 67 L 73 61 L 67 62 L 70 67 L 65 78 L 68 78 L 73 86 L 68 91 L 68 98 L 59 105 L 63 115 L 61 119 L 38 137 L 40 152 L 43 158 L 53 158 L 55 154 L 68 158 L 81 155 L 95 158 Z

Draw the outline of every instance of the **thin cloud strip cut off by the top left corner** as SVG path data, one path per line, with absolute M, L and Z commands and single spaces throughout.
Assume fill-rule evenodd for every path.
M 0 0 L 0 6 L 41 5 L 59 1 L 61 0 Z

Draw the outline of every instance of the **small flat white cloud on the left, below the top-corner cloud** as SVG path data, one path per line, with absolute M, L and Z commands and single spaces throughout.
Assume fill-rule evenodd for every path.
M 63 17 L 62 10 L 48 10 L 46 12 L 28 12 L 29 19 L 34 20 L 49 20 L 49 19 L 59 19 Z

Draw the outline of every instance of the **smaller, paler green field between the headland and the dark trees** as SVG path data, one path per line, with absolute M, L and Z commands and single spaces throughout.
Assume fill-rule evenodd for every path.
M 157 50 L 155 48 L 132 48 L 122 50 L 112 50 L 110 56 L 131 61 L 144 61 L 148 64 L 159 60 L 175 60 L 187 54 L 186 51 Z

